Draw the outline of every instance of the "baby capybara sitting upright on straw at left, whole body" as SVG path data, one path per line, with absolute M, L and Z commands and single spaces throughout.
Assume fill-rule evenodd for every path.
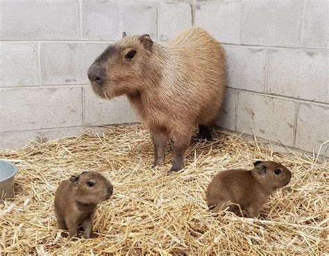
M 83 172 L 60 183 L 55 195 L 58 227 L 76 236 L 81 225 L 86 238 L 92 238 L 92 221 L 99 203 L 108 200 L 112 184 L 96 172 Z

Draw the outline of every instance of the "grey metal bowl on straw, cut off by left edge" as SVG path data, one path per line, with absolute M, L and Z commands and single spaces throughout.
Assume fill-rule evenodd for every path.
M 8 161 L 0 160 L 0 201 L 14 195 L 14 176 L 17 168 Z

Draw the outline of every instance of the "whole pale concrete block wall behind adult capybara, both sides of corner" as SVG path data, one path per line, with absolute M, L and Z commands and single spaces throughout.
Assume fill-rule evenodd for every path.
M 328 0 L 0 0 L 0 24 L 0 147 L 136 121 L 87 67 L 123 31 L 167 41 L 192 24 L 226 48 L 217 125 L 311 152 L 329 140 Z

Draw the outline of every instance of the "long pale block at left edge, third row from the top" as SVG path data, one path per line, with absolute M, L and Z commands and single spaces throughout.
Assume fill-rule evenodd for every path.
M 2 89 L 0 109 L 0 132 L 81 126 L 82 88 Z

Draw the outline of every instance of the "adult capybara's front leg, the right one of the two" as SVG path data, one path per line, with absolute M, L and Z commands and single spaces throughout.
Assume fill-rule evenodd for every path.
M 189 141 L 192 137 L 192 132 L 185 135 L 174 135 L 174 159 L 173 165 L 169 172 L 178 172 L 184 168 L 185 154 L 189 147 Z

